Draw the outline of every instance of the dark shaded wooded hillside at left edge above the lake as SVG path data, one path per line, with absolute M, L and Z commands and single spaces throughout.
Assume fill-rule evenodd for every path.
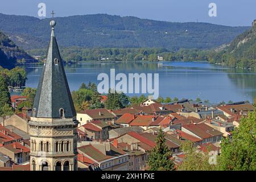
M 27 62 L 35 61 L 25 51 L 16 46 L 8 36 L 0 32 L 0 66 L 5 68 L 14 67 L 16 61 L 23 58 Z

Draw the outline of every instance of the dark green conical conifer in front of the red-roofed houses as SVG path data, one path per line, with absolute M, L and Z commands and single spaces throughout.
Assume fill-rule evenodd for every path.
M 171 151 L 166 146 L 164 132 L 159 130 L 158 137 L 155 140 L 156 146 L 151 150 L 148 156 L 148 165 L 150 171 L 173 171 L 174 160 Z

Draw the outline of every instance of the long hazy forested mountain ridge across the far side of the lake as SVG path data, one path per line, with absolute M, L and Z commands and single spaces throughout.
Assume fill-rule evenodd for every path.
M 209 23 L 172 23 L 108 14 L 55 18 L 56 36 L 63 47 L 208 49 L 230 43 L 249 27 Z M 49 18 L 0 14 L 0 30 L 20 47 L 47 47 Z

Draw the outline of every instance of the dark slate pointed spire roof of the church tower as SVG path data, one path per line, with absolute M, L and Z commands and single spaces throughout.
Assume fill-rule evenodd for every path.
M 42 75 L 33 106 L 32 116 L 35 118 L 60 118 L 61 109 L 65 118 L 76 116 L 75 107 L 65 75 L 63 62 L 54 34 L 55 20 L 49 23 L 52 27 L 51 40 L 47 50 Z

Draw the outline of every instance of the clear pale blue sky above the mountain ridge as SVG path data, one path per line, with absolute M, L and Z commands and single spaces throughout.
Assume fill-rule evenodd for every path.
M 101 13 L 227 26 L 251 26 L 256 19 L 255 0 L 0 0 L 0 13 L 42 18 L 39 3 L 46 4 L 46 17 L 54 10 L 55 16 Z M 209 16 L 210 3 L 216 4 L 217 16 Z

